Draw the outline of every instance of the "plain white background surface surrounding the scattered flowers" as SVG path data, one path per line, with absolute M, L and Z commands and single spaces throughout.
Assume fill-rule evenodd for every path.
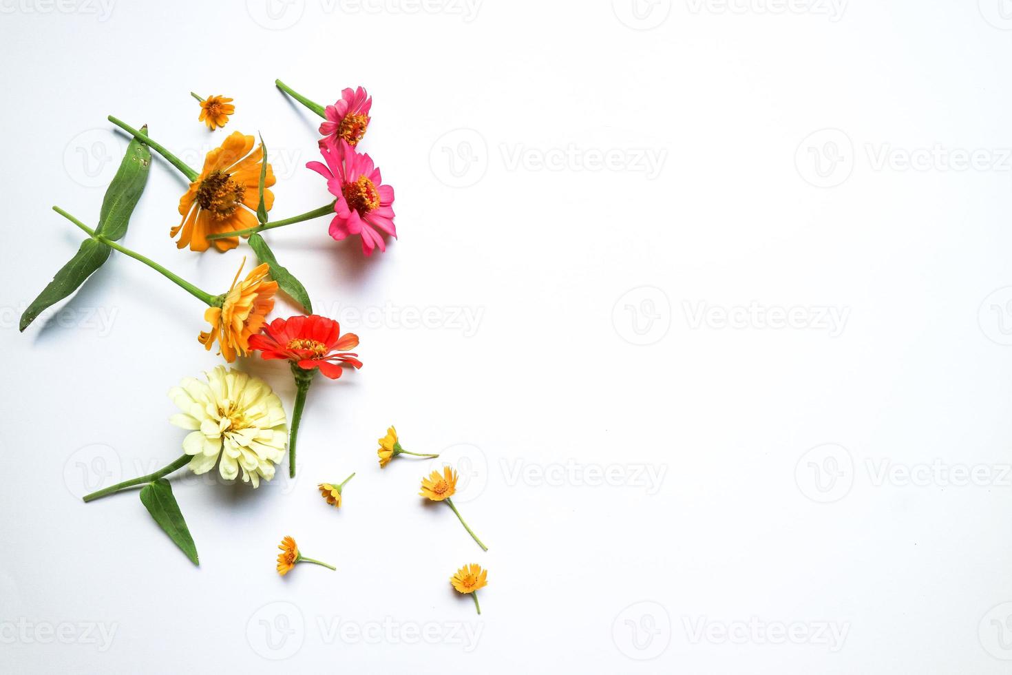
M 270 1 L 0 0 L 0 670 L 1008 672 L 1012 6 Z M 81 240 L 50 207 L 96 222 L 107 114 L 194 166 L 260 132 L 272 217 L 325 203 L 274 78 L 368 88 L 401 238 L 269 235 L 365 365 L 314 385 L 297 482 L 179 475 L 195 568 L 78 496 L 180 454 L 199 304 L 113 254 L 17 318 Z M 123 243 L 221 292 L 249 249 L 177 251 L 184 188 L 156 158 Z M 392 423 L 487 554 L 427 461 L 378 469 Z M 284 534 L 339 571 L 279 578 Z

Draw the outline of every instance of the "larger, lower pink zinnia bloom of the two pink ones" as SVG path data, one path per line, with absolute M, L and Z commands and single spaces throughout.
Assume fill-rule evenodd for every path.
M 330 236 L 341 241 L 348 235 L 361 235 L 365 255 L 371 255 L 376 246 L 386 251 L 387 244 L 376 229 L 397 237 L 394 188 L 383 184 L 380 169 L 368 155 L 359 155 L 343 139 L 336 147 L 321 147 L 320 154 L 326 165 L 310 162 L 306 167 L 326 178 L 327 189 L 337 198 Z

